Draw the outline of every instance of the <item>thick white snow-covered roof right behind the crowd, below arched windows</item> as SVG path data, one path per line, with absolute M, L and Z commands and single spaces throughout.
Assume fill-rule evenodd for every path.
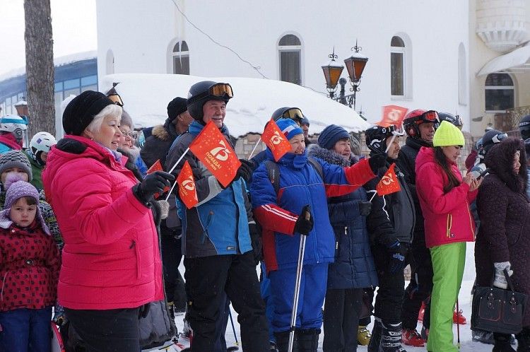
M 112 74 L 104 76 L 100 90 L 107 92 L 112 83 L 124 101 L 124 109 L 139 127 L 151 127 L 167 118 L 167 103 L 187 97 L 189 87 L 199 81 L 230 83 L 234 98 L 228 102 L 225 123 L 235 137 L 249 132 L 260 133 L 278 107 L 300 107 L 310 120 L 310 134 L 319 133 L 329 124 L 348 131 L 364 131 L 369 124 L 346 105 L 325 95 L 276 80 L 241 77 L 199 77 L 176 74 Z

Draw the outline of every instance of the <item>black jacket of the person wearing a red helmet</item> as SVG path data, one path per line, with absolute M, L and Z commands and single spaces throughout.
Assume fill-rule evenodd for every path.
M 416 194 L 416 156 L 420 148 L 430 144 L 416 138 L 407 137 L 405 145 L 399 151 L 399 157 L 396 164 L 404 174 L 405 182 L 411 192 L 414 200 L 414 209 L 416 209 L 416 225 L 414 225 L 414 242 L 421 242 L 425 245 L 425 229 L 423 227 L 423 214 L 421 213 L 420 201 Z

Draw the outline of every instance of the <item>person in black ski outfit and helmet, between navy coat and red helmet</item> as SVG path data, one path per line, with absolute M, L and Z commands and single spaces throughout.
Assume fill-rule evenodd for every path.
M 373 126 L 365 131 L 370 156 L 388 157 L 377 170 L 378 177 L 365 184 L 372 195 L 372 211 L 367 218 L 372 254 L 379 278 L 375 298 L 374 327 L 368 345 L 370 352 L 398 352 L 401 347 L 401 303 L 416 216 L 411 192 L 395 162 L 399 155 L 399 137 L 403 133 L 395 125 Z

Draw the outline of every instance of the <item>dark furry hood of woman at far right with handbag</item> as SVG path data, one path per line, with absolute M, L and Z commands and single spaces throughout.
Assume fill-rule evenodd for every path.
M 521 167 L 517 175 L 512 172 L 516 151 L 521 152 L 519 156 Z M 510 137 L 495 144 L 486 154 L 485 165 L 491 170 L 490 173 L 497 175 L 513 192 L 520 193 L 526 190 L 526 153 L 522 140 Z

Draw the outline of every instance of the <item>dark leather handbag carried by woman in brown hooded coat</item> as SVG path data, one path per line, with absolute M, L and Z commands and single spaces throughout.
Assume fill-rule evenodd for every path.
M 471 329 L 500 334 L 521 332 L 528 295 L 515 292 L 506 269 L 504 274 L 510 290 L 494 286 L 473 288 Z

